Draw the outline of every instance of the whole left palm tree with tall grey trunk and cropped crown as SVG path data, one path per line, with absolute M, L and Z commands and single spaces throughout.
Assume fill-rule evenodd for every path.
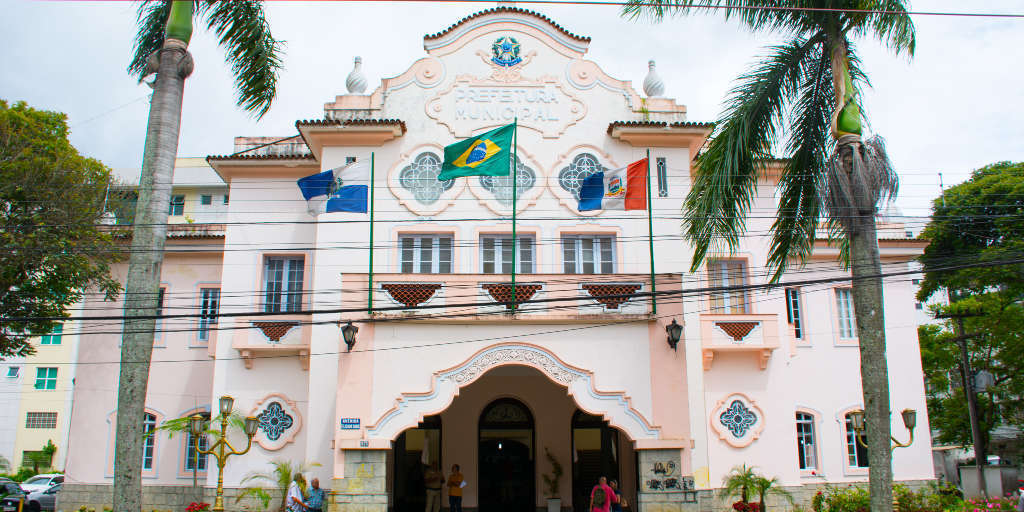
M 118 383 L 114 459 L 114 508 L 142 507 L 142 415 L 150 379 L 160 273 L 167 234 L 174 158 L 181 125 L 184 80 L 193 71 L 188 53 L 193 17 L 227 50 L 239 105 L 263 116 L 275 95 L 281 42 L 270 35 L 259 2 L 144 1 L 138 11 L 134 58 L 128 72 L 141 81 L 156 73 L 142 155 L 138 205 L 125 287 L 125 323 Z

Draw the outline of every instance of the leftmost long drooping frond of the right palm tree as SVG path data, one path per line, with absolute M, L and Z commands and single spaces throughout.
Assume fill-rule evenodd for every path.
M 693 243 L 691 270 L 703 262 L 712 244 L 739 245 L 758 172 L 771 159 L 785 105 L 796 96 L 808 54 L 818 37 L 798 37 L 779 46 L 730 91 L 721 127 L 695 162 L 693 187 L 686 196 L 684 227 Z

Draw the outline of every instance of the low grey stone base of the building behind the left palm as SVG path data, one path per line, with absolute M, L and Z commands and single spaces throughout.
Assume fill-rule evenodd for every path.
M 201 495 L 197 497 L 196 489 L 191 485 L 143 485 L 142 486 L 142 512 L 152 511 L 173 511 L 184 512 L 189 503 L 200 501 L 213 505 L 217 496 L 216 488 L 200 487 Z M 224 489 L 224 508 L 227 510 L 264 510 L 261 503 L 246 498 L 236 503 L 234 499 L 242 492 L 240 488 Z M 281 503 L 281 493 L 271 493 L 270 509 L 276 509 Z M 60 487 L 57 494 L 57 512 L 76 512 L 82 507 L 86 510 L 102 512 L 104 509 L 112 510 L 114 501 L 114 486 L 111 484 L 85 484 L 68 483 Z

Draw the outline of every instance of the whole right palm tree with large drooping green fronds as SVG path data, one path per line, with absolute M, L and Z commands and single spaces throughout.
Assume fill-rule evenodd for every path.
M 624 14 L 663 19 L 709 10 L 790 40 L 743 74 L 707 150 L 696 159 L 684 228 L 694 245 L 691 270 L 709 249 L 739 247 L 744 216 L 772 150 L 785 157 L 768 267 L 777 283 L 792 260 L 806 262 L 824 218 L 830 243 L 853 278 L 854 313 L 867 422 L 871 510 L 892 510 L 889 375 L 882 265 L 874 215 L 896 195 L 897 177 L 880 137 L 861 139 L 858 90 L 867 86 L 851 36 L 870 36 L 913 55 L 913 23 L 904 0 L 630 0 Z M 782 137 L 783 129 L 788 133 Z

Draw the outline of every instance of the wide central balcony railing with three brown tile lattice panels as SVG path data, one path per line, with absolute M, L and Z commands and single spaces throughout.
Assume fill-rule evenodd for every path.
M 367 307 L 367 284 L 365 273 L 345 274 L 342 307 Z M 657 278 L 658 292 L 673 285 L 679 290 L 678 276 Z M 649 274 L 526 273 L 516 276 L 513 308 L 508 274 L 375 273 L 373 314 L 432 322 L 500 321 L 512 313 L 538 321 L 644 317 L 651 299 L 638 294 L 649 293 Z

